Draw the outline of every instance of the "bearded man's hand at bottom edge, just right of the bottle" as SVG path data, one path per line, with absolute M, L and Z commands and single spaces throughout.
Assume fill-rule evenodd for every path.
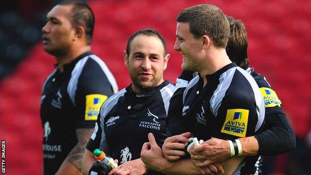
M 119 167 L 111 171 L 108 175 L 144 175 L 146 172 L 146 165 L 142 162 L 141 159 L 136 159 L 121 164 Z

